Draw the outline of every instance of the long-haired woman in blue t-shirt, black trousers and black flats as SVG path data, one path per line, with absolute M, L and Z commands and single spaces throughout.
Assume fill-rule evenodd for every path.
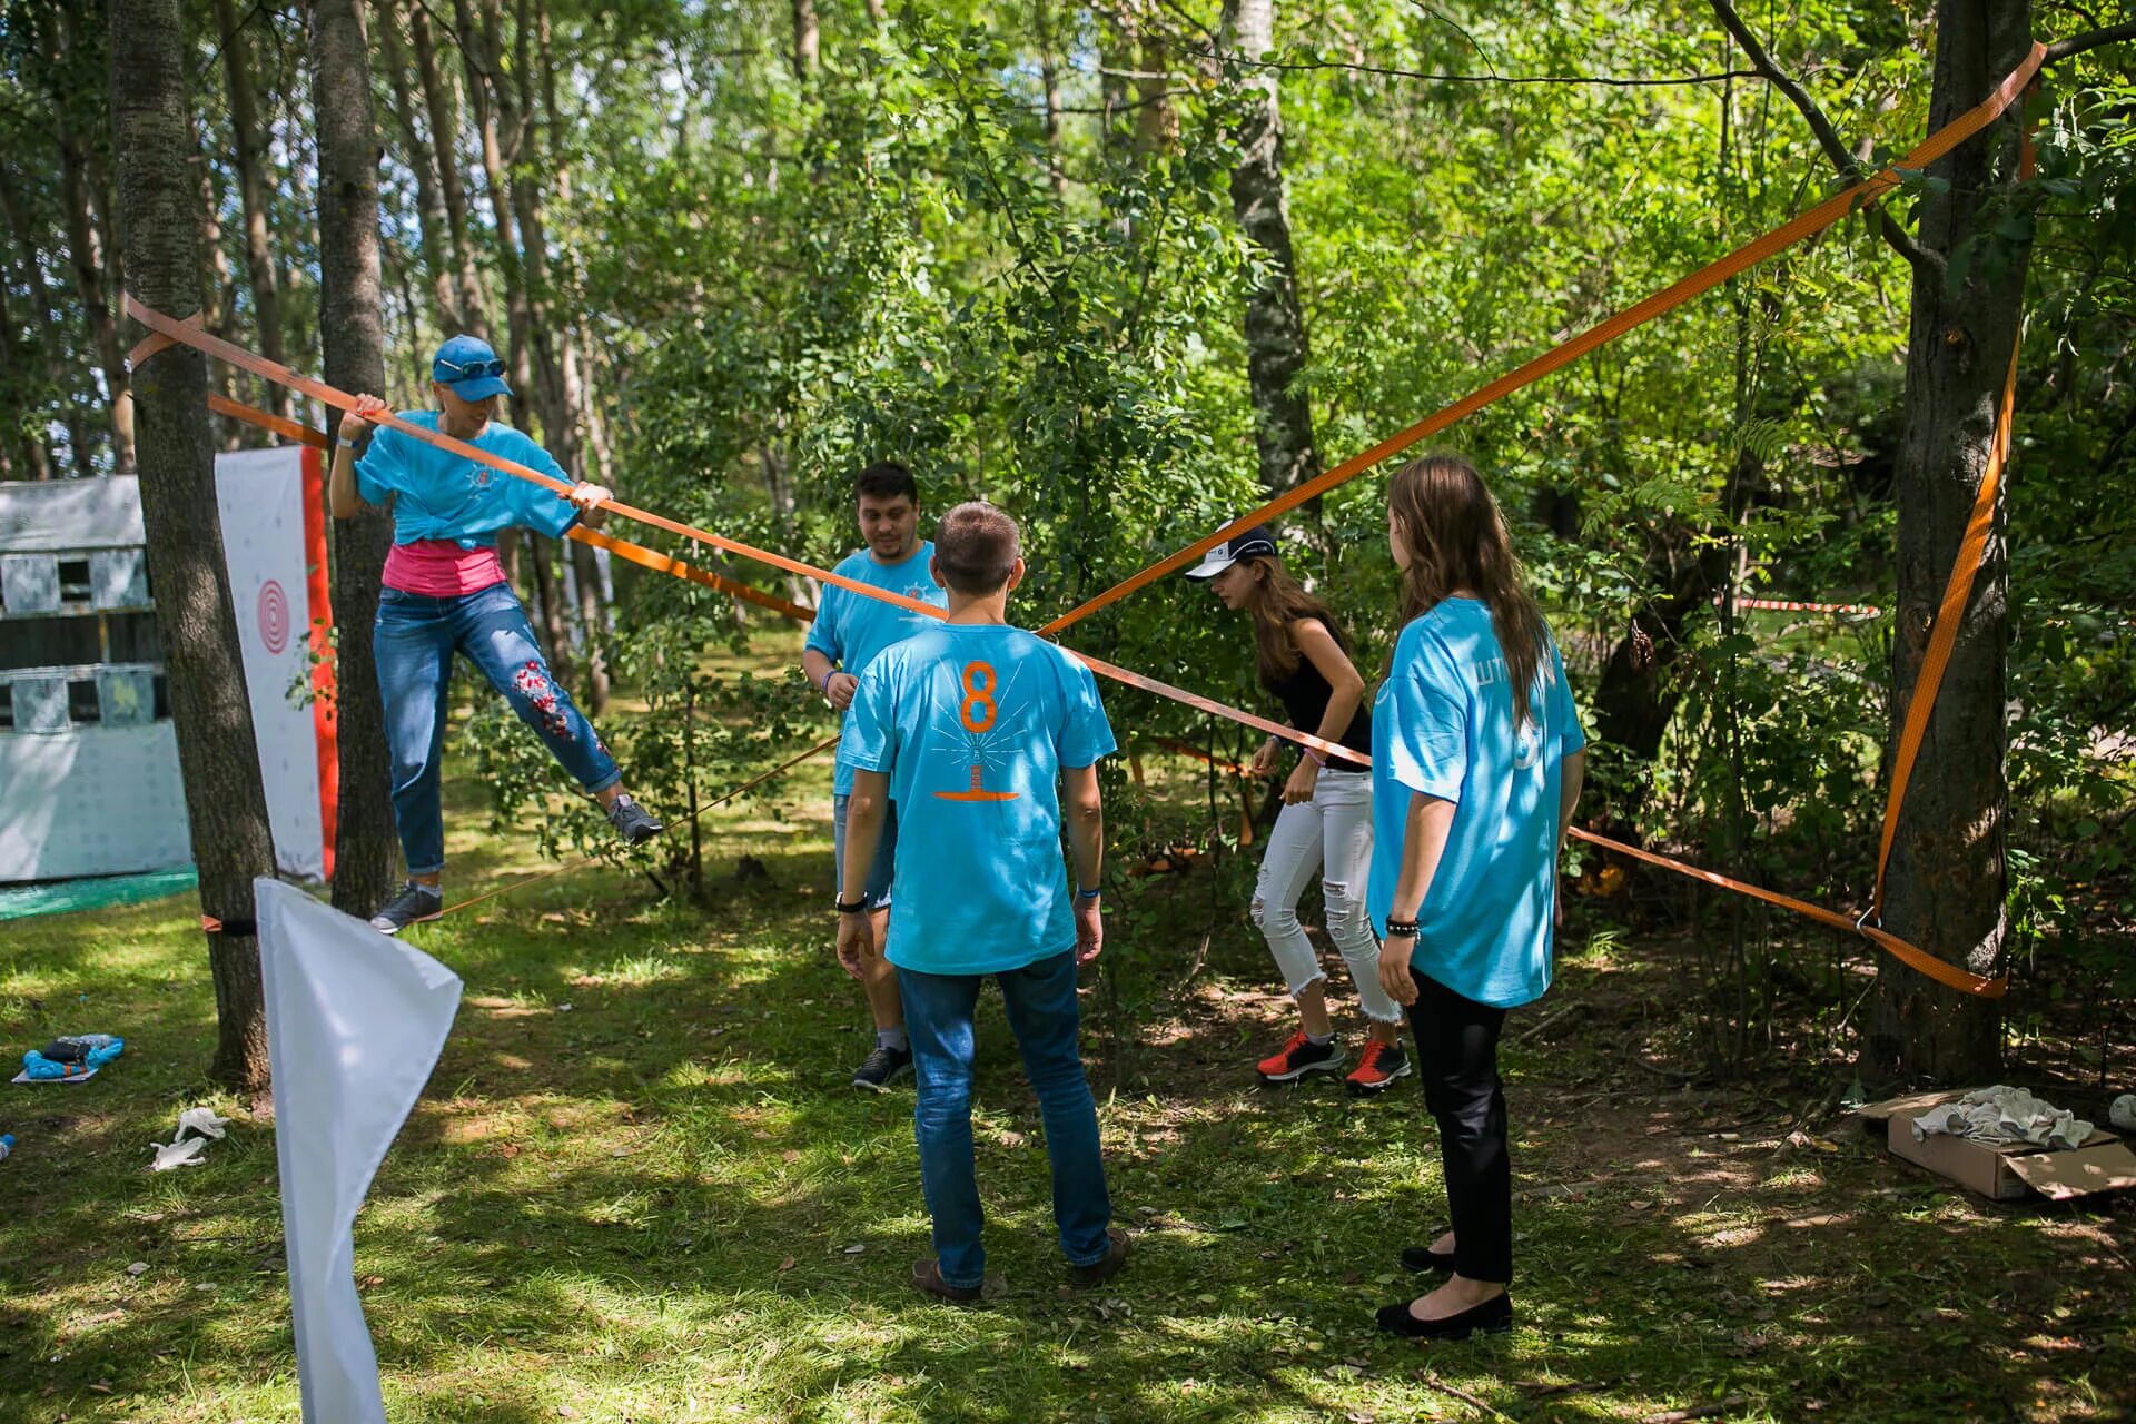
M 1506 521 L 1474 465 L 1427 455 L 1386 495 L 1403 628 L 1371 717 L 1371 918 L 1440 1125 L 1455 1230 L 1408 1247 L 1452 1277 L 1380 1328 L 1465 1339 L 1512 1324 L 1512 1166 L 1497 1033 L 1551 982 L 1557 852 L 1587 739 Z

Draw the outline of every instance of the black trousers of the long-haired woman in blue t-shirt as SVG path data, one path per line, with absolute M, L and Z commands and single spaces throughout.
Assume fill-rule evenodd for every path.
M 1440 1123 L 1446 1208 L 1455 1221 L 1455 1270 L 1470 1281 L 1512 1281 L 1512 1159 L 1506 1151 L 1506 1085 L 1497 1033 L 1506 1010 L 1463 999 L 1418 974 L 1410 1031 L 1425 1106 Z

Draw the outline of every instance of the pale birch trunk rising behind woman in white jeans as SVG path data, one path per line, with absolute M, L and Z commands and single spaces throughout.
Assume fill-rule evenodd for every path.
M 1224 49 L 1241 60 L 1260 60 L 1275 49 L 1275 0 L 1226 0 Z M 1260 248 L 1267 273 L 1245 301 L 1245 369 L 1254 393 L 1260 485 L 1277 493 L 1320 474 L 1320 450 L 1312 404 L 1297 389 L 1307 359 L 1305 312 L 1284 203 L 1284 120 L 1275 70 L 1247 73 L 1230 207 L 1247 241 Z

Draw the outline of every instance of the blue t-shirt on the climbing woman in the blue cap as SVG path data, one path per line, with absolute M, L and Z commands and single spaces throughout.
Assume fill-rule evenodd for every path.
M 438 429 L 436 410 L 404 410 L 399 418 Z M 549 450 L 502 421 L 485 425 L 468 444 L 570 482 Z M 372 431 L 372 444 L 357 461 L 357 493 L 365 504 L 384 504 L 387 495 L 397 495 L 395 544 L 449 538 L 461 549 L 483 549 L 498 542 L 500 529 L 562 538 L 579 523 L 579 510 L 564 495 L 387 427 Z

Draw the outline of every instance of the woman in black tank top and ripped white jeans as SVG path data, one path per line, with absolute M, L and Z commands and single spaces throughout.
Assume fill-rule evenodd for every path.
M 1254 619 L 1254 662 L 1260 685 L 1284 705 L 1288 724 L 1356 751 L 1371 749 L 1365 679 L 1350 662 L 1350 640 L 1329 606 L 1284 570 L 1267 525 L 1209 551 L 1188 570 L 1207 579 L 1226 608 Z M 1275 737 L 1254 754 L 1256 777 L 1275 775 L 1284 743 Z M 1369 1033 L 1358 1065 L 1346 1078 L 1356 1095 L 1380 1093 L 1410 1074 L 1401 1053 L 1401 1006 L 1380 986 L 1380 944 L 1365 918 L 1371 869 L 1371 773 L 1356 762 L 1303 747 L 1284 781 L 1284 809 L 1260 854 L 1254 882 L 1254 924 L 1269 939 L 1275 967 L 1299 1003 L 1299 1031 L 1256 1067 L 1262 1082 L 1297 1082 L 1305 1074 L 1339 1072 L 1344 1048 L 1329 1020 L 1326 974 L 1299 924 L 1299 897 L 1320 875 L 1329 937 L 1350 965 Z

